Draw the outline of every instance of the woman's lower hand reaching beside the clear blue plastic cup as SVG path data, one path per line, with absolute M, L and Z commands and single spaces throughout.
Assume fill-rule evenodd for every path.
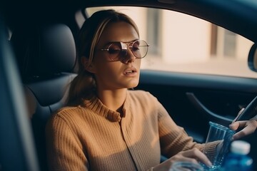
M 178 152 L 177 155 L 174 155 L 173 157 L 169 158 L 165 162 L 162 162 L 160 165 L 157 165 L 156 167 L 153 167 L 153 171 L 165 171 L 171 169 L 171 166 L 174 164 L 174 162 L 193 162 L 198 164 L 198 162 L 203 162 L 207 166 L 211 166 L 211 161 L 208 160 L 206 155 L 203 154 L 200 150 L 197 148 L 193 148 L 192 150 L 187 150 L 183 152 Z

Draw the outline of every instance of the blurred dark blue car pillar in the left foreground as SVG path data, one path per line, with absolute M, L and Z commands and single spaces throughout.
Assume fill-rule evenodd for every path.
M 0 170 L 39 170 L 21 80 L 4 22 L 0 21 L 1 152 Z M 4 57 L 5 56 L 5 57 Z M 9 68 L 12 68 L 11 72 Z M 4 79 L 12 78 L 10 81 Z M 14 94 L 15 93 L 15 94 Z

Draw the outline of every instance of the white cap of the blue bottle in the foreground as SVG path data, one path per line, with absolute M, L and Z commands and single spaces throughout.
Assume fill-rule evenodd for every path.
M 250 143 L 243 140 L 235 140 L 231 143 L 231 152 L 239 155 L 247 155 L 250 152 Z

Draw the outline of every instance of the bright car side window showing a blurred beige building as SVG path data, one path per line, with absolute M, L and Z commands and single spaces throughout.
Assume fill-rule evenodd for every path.
M 257 78 L 247 64 L 253 42 L 225 28 L 163 9 L 105 6 L 85 12 L 101 9 L 116 9 L 136 22 L 140 38 L 150 44 L 142 69 Z

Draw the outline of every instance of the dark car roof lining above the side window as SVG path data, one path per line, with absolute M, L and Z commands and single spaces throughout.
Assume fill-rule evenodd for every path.
M 32 22 L 32 24 L 36 24 L 36 22 L 71 22 L 74 20 L 74 14 L 76 14 L 76 11 L 87 7 L 145 6 L 169 9 L 183 14 L 196 16 L 200 19 L 210 21 L 213 24 L 238 33 L 251 41 L 257 41 L 257 3 L 254 2 L 254 0 L 235 0 L 233 3 L 231 3 L 231 1 L 223 0 L 74 0 L 72 3 L 69 1 L 60 1 L 61 8 L 59 6 L 59 0 L 54 0 L 55 3 L 51 2 L 51 6 L 46 2 L 41 2 L 39 3 L 41 5 L 40 8 L 39 4 L 30 4 L 30 6 L 27 6 L 26 4 L 21 4 L 18 1 L 17 4 L 20 4 L 20 6 L 11 6 L 11 2 L 7 0 L 4 1 L 6 1 L 5 4 L 8 5 L 2 6 L 2 8 L 4 9 L 4 16 L 6 16 L 6 19 L 9 22 L 7 23 L 10 28 L 19 28 L 19 26 L 23 24 L 31 24 L 30 22 Z M 163 1 L 171 3 L 163 3 Z M 35 19 L 35 17 L 37 19 Z M 13 21 L 16 23 L 12 23 Z M 238 24 L 238 21 L 240 21 L 240 24 Z

